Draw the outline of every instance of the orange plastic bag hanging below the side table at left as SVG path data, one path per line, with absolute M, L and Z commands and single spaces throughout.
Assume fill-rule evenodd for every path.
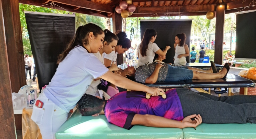
M 38 125 L 31 119 L 32 110 L 22 111 L 22 139 L 42 139 Z

